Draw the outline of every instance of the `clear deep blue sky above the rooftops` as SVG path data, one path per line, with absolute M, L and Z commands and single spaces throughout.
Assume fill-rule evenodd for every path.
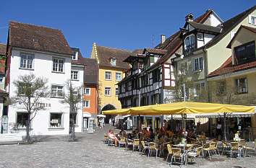
M 1 0 L 0 43 L 7 42 L 8 22 L 14 20 L 62 30 L 69 45 L 80 48 L 84 57 L 90 57 L 93 42 L 127 50 L 151 48 L 161 34 L 168 37 L 182 27 L 189 12 L 197 17 L 213 9 L 225 21 L 255 4 L 249 0 Z

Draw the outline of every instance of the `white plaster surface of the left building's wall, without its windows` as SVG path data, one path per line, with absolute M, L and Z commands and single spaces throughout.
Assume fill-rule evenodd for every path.
M 33 70 L 20 69 L 20 50 L 12 50 L 11 66 L 10 66 L 10 84 L 9 84 L 9 95 L 10 97 L 15 96 L 16 87 L 13 81 L 20 75 L 33 73 L 35 76 L 43 76 L 48 79 L 48 89 L 51 90 L 51 84 L 64 85 L 66 81 L 70 79 L 71 75 L 71 56 L 61 56 L 61 55 L 51 55 L 51 53 L 39 53 L 39 52 L 27 52 L 33 53 L 35 55 Z M 52 58 L 60 57 L 64 58 L 64 73 L 54 73 L 52 72 Z M 82 74 L 82 73 L 80 73 Z M 83 80 L 83 79 L 82 79 Z M 67 91 L 67 90 L 66 90 Z M 65 92 L 65 88 L 64 88 Z M 33 122 L 32 122 L 32 134 L 33 135 L 56 135 L 56 134 L 68 134 L 69 133 L 69 105 L 61 103 L 61 98 L 44 98 L 42 102 L 50 103 L 51 107 L 46 107 L 46 110 L 40 110 L 37 112 Z M 16 123 L 17 112 L 22 112 L 19 105 L 9 106 L 9 124 Z M 81 110 L 82 111 L 82 110 Z M 50 112 L 61 112 L 63 128 L 49 128 Z M 81 112 L 82 113 L 82 112 Z M 81 120 L 82 122 L 82 120 Z M 80 127 L 82 123 L 78 124 Z M 77 130 L 78 131 L 78 130 Z M 82 129 L 80 129 L 82 131 Z M 25 133 L 25 131 L 24 131 Z

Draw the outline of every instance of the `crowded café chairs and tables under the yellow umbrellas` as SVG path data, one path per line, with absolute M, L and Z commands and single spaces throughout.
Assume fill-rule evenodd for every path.
M 125 131 L 114 133 L 110 130 L 108 134 L 104 135 L 104 142 L 108 146 L 116 145 L 116 147 L 126 151 L 137 151 L 138 154 L 148 158 L 155 157 L 157 159 L 160 157 L 170 165 L 197 164 L 199 160 L 200 162 L 211 161 L 213 157 L 218 160 L 220 157 L 243 159 L 248 156 L 256 156 L 256 139 L 254 142 L 247 142 L 244 139 L 218 141 L 216 138 L 197 135 L 194 141 L 187 143 L 187 139 L 175 141 L 175 133 L 171 137 L 165 138 L 164 136 L 153 135 L 160 137 L 156 139 L 150 139 L 148 135 L 150 135 L 150 131 L 145 129 L 142 132 L 135 130 L 129 133 Z M 106 137 L 108 138 L 106 139 Z M 118 145 L 115 144 L 115 141 Z

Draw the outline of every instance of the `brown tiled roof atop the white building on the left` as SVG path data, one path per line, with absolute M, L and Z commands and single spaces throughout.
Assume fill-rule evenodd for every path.
M 9 22 L 9 45 L 68 55 L 73 53 L 61 30 L 20 22 Z

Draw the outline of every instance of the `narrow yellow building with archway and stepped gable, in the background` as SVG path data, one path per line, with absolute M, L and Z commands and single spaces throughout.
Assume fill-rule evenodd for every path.
M 91 58 L 95 58 L 99 65 L 98 105 L 101 110 L 121 109 L 118 100 L 118 86 L 124 78 L 124 72 L 129 69 L 124 59 L 130 55 L 127 50 L 108 48 L 93 43 Z

